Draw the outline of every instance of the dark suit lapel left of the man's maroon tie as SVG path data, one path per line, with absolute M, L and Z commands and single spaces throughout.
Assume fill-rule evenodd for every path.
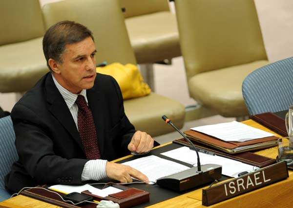
M 46 79 L 45 88 L 47 92 L 47 102 L 51 104 L 51 106 L 49 107 L 49 111 L 53 114 L 53 116 L 55 116 L 60 121 L 63 127 L 68 131 L 68 133 L 73 137 L 73 139 L 76 140 L 76 142 L 84 151 L 83 143 L 80 139 L 80 135 L 78 133 L 72 115 L 61 93 L 55 86 L 53 78 L 50 74 Z

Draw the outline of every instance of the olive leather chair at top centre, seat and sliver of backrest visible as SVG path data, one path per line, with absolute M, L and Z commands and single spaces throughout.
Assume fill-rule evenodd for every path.
M 138 64 L 181 56 L 176 17 L 168 0 L 120 0 Z

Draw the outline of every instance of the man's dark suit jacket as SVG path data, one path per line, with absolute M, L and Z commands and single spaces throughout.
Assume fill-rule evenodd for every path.
M 123 97 L 115 79 L 97 73 L 86 91 L 102 159 L 129 154 L 127 145 L 135 130 L 124 113 Z M 85 162 L 82 140 L 70 111 L 47 73 L 24 94 L 11 113 L 19 161 L 5 178 L 8 190 L 24 186 L 81 185 Z

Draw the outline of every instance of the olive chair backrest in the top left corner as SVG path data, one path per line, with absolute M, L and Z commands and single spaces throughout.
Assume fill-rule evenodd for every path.
M 27 41 L 44 34 L 39 0 L 1 0 L 0 17 L 0 46 Z

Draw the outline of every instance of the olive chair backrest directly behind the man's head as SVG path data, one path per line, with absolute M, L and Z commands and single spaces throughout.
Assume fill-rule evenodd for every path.
M 84 24 L 94 35 L 97 63 L 136 64 L 118 0 L 63 0 L 42 8 L 45 26 L 69 20 Z

